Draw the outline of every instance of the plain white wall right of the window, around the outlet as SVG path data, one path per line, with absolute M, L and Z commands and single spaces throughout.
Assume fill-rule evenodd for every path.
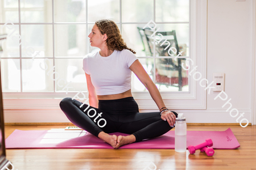
M 232 99 L 232 108 L 247 113 L 245 115 L 249 121 L 252 95 L 252 4 L 252 0 L 208 0 L 207 27 L 207 79 L 212 80 L 213 73 L 225 73 L 225 92 L 228 99 Z M 214 100 L 217 94 L 207 95 L 207 109 L 226 111 L 229 105 L 222 108 L 225 101 Z

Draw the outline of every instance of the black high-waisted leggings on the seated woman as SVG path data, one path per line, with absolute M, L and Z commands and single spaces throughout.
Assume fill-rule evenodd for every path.
M 89 102 L 88 102 L 89 103 Z M 82 103 L 71 97 L 60 102 L 61 110 L 68 119 L 81 129 L 98 137 L 105 133 L 120 132 L 133 134 L 136 142 L 159 137 L 171 130 L 167 121 L 163 121 L 160 112 L 139 113 L 139 107 L 133 97 L 115 100 L 98 100 L 98 108 Z M 173 111 L 171 111 L 173 112 Z M 173 112 L 176 117 L 177 113 Z

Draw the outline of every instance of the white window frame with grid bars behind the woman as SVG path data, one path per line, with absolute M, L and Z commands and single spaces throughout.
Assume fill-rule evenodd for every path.
M 20 1 L 20 0 L 19 0 Z M 20 6 L 20 2 L 19 2 Z M 86 0 L 86 7 L 88 1 Z M 120 8 L 122 1 L 120 0 Z M 52 15 L 54 20 L 54 3 L 52 1 Z M 154 0 L 155 9 L 155 0 Z M 198 66 L 197 71 L 202 74 L 202 78 L 207 78 L 207 0 L 190 0 L 189 2 L 189 58 L 194 61 L 193 66 Z M 86 10 L 86 19 L 88 20 Z M 155 10 L 154 10 L 155 13 Z M 155 15 L 154 15 L 155 16 Z M 121 17 L 121 12 L 120 12 Z M 155 20 L 155 19 L 154 19 Z M 166 22 L 164 22 L 166 23 Z M 169 22 L 168 22 L 169 23 Z M 171 22 L 170 22 L 171 23 Z M 4 24 L 4 23 L 0 23 Z M 19 31 L 20 31 L 20 8 L 19 8 Z M 23 24 L 23 23 L 22 23 Z M 35 24 L 35 23 L 27 23 Z M 37 23 L 37 24 L 56 24 L 56 23 Z M 59 23 L 63 24 L 63 23 Z M 73 24 L 73 23 L 68 23 Z M 77 24 L 77 23 L 74 23 Z M 84 23 L 86 28 L 89 24 Z M 120 26 L 122 20 L 120 18 Z M 131 24 L 131 23 L 129 23 Z M 136 23 L 146 24 L 146 23 Z M 156 24 L 161 24 L 156 22 Z M 120 27 L 122 28 L 122 27 Z M 89 30 L 87 29 L 88 33 Z M 121 30 L 122 31 L 122 30 Z M 53 27 L 54 33 L 54 27 Z M 54 36 L 53 36 L 54 37 Z M 88 37 L 87 37 L 88 39 Z M 53 39 L 54 40 L 54 39 Z M 54 44 L 54 43 L 53 43 Z M 87 49 L 88 50 L 88 49 Z M 53 48 L 54 53 L 54 48 Z M 22 57 L 22 59 L 25 57 Z M 59 57 L 58 57 L 59 58 Z M 138 57 L 140 58 L 140 57 Z M 20 56 L 21 59 L 21 56 Z M 53 62 L 55 57 L 53 56 Z M 54 87 L 55 91 L 55 87 Z M 68 92 L 68 96 L 75 96 L 77 92 Z M 87 94 L 88 95 L 88 94 Z M 199 81 L 189 76 L 189 92 L 161 92 L 161 96 L 167 108 L 171 109 L 206 109 L 207 91 L 199 85 Z M 39 97 L 40 96 L 40 97 Z M 67 96 L 65 92 L 4 92 L 5 109 L 59 109 L 59 101 Z M 137 101 L 141 110 L 155 110 L 158 108 L 148 92 L 133 92 L 134 99 Z M 37 99 L 35 99 L 37 98 Z

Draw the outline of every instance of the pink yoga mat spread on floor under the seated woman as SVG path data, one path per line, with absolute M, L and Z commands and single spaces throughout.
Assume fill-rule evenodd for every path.
M 112 133 L 121 135 L 122 133 Z M 127 134 L 122 134 L 127 135 Z M 141 142 L 131 143 L 120 148 L 174 148 L 174 130 Z M 210 138 L 215 149 L 234 149 L 240 147 L 229 128 L 225 131 L 187 131 L 187 146 L 198 145 Z M 14 130 L 6 139 L 6 148 L 113 148 L 100 138 L 85 130 Z

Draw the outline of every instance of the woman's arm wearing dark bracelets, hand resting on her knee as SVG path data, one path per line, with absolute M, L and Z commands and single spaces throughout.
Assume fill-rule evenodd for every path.
M 160 92 L 158 88 L 155 86 L 155 83 L 151 80 L 150 76 L 147 74 L 146 70 L 144 70 L 143 66 L 141 65 L 141 62 L 137 59 L 133 62 L 133 64 L 129 67 L 131 71 L 138 77 L 138 79 L 144 84 L 144 86 L 147 88 L 148 92 L 150 92 L 150 95 L 152 99 L 155 101 L 156 105 L 158 105 L 159 110 L 163 107 L 166 107 L 164 105 L 163 99 L 160 95 Z M 173 126 L 175 124 L 175 115 L 174 113 L 170 111 L 166 111 L 162 113 L 161 118 L 163 120 L 167 120 L 170 126 Z M 171 117 L 172 116 L 172 117 Z

